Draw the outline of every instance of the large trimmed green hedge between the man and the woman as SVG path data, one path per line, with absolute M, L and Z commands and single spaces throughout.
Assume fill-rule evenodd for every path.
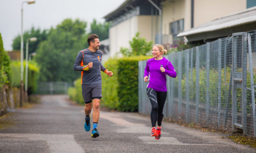
M 102 105 L 119 111 L 138 110 L 138 61 L 151 56 L 110 58 L 104 67 L 114 75 L 102 73 Z

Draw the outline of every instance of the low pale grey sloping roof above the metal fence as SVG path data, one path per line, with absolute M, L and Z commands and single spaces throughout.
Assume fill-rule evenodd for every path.
M 186 36 L 189 42 L 227 37 L 235 32 L 256 30 L 256 7 L 223 16 L 204 23 L 201 26 L 180 32 L 177 36 Z

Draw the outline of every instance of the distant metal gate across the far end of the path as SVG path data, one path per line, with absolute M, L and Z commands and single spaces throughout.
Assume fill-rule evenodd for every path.
M 39 82 L 36 93 L 43 95 L 67 94 L 69 86 L 68 82 Z

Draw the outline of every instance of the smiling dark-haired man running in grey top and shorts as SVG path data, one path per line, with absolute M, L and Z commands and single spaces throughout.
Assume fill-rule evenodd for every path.
M 102 78 L 100 71 L 109 77 L 113 75 L 102 64 L 102 51 L 99 50 L 100 40 L 95 34 L 87 39 L 89 48 L 79 51 L 74 63 L 74 71 L 82 71 L 82 95 L 85 102 L 85 131 L 90 131 L 90 112 L 92 112 L 93 128 L 91 137 L 99 137 L 97 125 L 100 117 L 100 99 L 102 98 Z M 80 66 L 81 65 L 81 66 Z

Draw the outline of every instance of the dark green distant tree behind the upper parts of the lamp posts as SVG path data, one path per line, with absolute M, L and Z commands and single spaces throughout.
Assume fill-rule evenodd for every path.
M 29 53 L 33 53 L 36 52 L 36 49 L 38 47 L 38 45 L 40 44 L 40 42 L 44 41 L 47 39 L 47 30 L 43 30 L 41 32 L 41 30 L 35 29 L 34 27 L 31 28 L 31 30 L 25 31 L 23 34 L 23 53 L 24 53 L 24 57 L 26 57 L 26 40 L 31 38 L 31 37 L 36 37 L 37 40 L 35 42 L 29 42 L 28 43 L 28 54 Z M 13 50 L 20 50 L 21 49 L 21 35 L 18 35 L 17 37 L 14 38 L 13 42 L 12 42 L 12 49 Z

